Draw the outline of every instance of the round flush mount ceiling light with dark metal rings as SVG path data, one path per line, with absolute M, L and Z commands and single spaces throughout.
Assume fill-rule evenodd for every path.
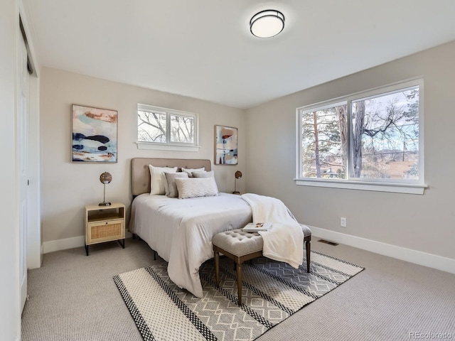
M 267 9 L 256 13 L 250 20 L 250 31 L 258 38 L 271 38 L 283 31 L 284 15 L 280 11 Z

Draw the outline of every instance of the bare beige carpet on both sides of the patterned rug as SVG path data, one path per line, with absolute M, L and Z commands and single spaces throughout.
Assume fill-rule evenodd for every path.
M 257 341 L 412 340 L 412 332 L 455 339 L 455 275 L 344 245 L 311 244 L 366 270 Z M 115 242 L 90 247 L 88 257 L 83 247 L 45 254 L 43 267 L 28 271 L 22 340 L 141 341 L 112 276 L 159 262 L 133 239 L 125 249 Z

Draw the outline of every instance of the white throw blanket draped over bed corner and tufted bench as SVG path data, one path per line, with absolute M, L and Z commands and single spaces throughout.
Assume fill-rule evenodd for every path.
M 275 197 L 247 193 L 242 198 L 250 204 L 253 222 L 272 222 L 262 236 L 262 254 L 298 268 L 304 259 L 304 232 L 284 203 Z

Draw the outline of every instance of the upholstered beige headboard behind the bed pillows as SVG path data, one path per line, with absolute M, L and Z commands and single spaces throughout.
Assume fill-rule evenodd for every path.
M 200 168 L 211 171 L 210 160 L 194 158 L 132 158 L 131 160 L 131 190 L 133 195 L 150 193 L 149 165 L 155 167 Z

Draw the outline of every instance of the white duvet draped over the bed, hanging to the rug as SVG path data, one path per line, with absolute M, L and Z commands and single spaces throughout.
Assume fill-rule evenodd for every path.
M 133 201 L 131 217 L 129 231 L 168 261 L 169 278 L 203 297 L 199 267 L 213 258 L 213 236 L 244 227 L 252 210 L 240 195 L 227 193 L 183 200 L 142 194 Z

